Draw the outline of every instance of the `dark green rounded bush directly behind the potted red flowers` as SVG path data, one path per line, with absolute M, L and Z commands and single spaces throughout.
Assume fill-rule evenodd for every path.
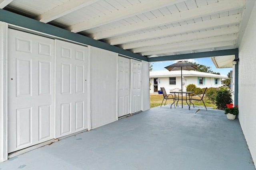
M 216 94 L 217 108 L 224 110 L 227 107 L 226 104 L 230 104 L 230 103 L 232 103 L 230 89 L 227 87 L 221 87 Z

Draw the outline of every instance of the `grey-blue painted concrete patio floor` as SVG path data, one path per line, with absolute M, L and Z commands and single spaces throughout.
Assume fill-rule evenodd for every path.
M 0 170 L 255 170 L 238 119 L 170 105 L 0 163 Z

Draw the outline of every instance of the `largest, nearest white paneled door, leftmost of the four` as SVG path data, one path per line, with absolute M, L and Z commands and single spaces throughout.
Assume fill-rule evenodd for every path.
M 53 139 L 54 40 L 9 29 L 8 152 Z

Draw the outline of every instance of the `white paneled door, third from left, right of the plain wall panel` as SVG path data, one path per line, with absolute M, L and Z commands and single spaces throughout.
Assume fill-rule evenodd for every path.
M 118 117 L 130 113 L 130 59 L 118 56 Z

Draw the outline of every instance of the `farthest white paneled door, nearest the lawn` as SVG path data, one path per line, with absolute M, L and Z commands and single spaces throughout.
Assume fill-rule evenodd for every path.
M 131 59 L 131 113 L 142 110 L 141 69 L 141 61 Z

